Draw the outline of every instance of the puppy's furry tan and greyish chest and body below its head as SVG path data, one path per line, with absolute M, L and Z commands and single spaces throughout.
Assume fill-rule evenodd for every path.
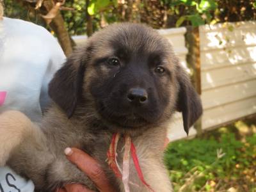
M 97 190 L 92 181 L 67 160 L 63 154 L 66 147 L 81 148 L 97 159 L 116 191 L 124 191 L 122 181 L 116 178 L 106 163 L 113 132 L 110 132 L 102 122 L 85 123 L 76 118 L 68 119 L 65 114 L 56 113 L 56 109 L 53 108 L 45 116 L 41 127 L 42 131 L 35 129 L 32 139 L 25 140 L 22 143 L 22 150 L 19 153 L 15 152 L 8 162 L 16 172 L 32 179 L 38 191 L 54 191 L 56 187 L 70 182 L 83 183 L 90 189 Z M 166 175 L 161 163 L 163 150 L 159 150 L 163 149 L 165 135 L 164 127 L 156 127 L 156 129 L 148 129 L 140 136 L 132 137 L 145 180 L 157 188 L 159 188 L 159 182 L 166 182 L 166 185 L 170 186 L 170 181 L 166 180 L 166 177 L 161 177 Z M 120 138 L 117 152 L 118 164 L 121 168 L 123 147 L 124 140 Z M 30 159 L 28 161 L 22 157 L 30 157 Z M 20 159 L 19 164 L 17 159 Z M 133 183 L 131 191 L 147 191 L 138 178 L 132 159 L 130 159 L 129 172 L 130 181 Z M 166 185 L 163 189 L 170 189 Z

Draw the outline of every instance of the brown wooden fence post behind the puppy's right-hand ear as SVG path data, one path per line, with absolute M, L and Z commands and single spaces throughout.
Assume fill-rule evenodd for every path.
M 187 27 L 185 35 L 186 47 L 188 48 L 187 63 L 188 67 L 192 71 L 191 80 L 195 86 L 196 92 L 201 95 L 201 63 L 200 63 L 200 38 L 198 27 Z M 202 118 L 199 118 L 194 125 L 196 134 L 199 136 L 202 134 Z

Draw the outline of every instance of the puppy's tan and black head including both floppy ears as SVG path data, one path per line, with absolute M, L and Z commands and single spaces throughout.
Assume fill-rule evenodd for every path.
M 168 40 L 141 24 L 114 24 L 95 33 L 55 74 L 49 95 L 68 117 L 87 103 L 95 116 L 122 130 L 159 125 L 177 110 L 188 132 L 202 114 Z

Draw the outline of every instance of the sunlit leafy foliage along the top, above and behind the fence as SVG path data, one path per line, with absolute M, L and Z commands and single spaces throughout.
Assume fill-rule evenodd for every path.
M 46 1 L 46 0 L 45 0 Z M 50 0 L 48 0 L 50 1 Z M 7 17 L 29 20 L 46 27 L 40 13 L 21 0 L 4 0 Z M 256 19 L 256 0 L 148 0 L 127 1 L 89 0 L 88 13 L 93 22 L 93 31 L 106 24 L 120 21 L 145 22 L 153 28 L 200 26 L 216 22 L 234 22 Z M 65 5 L 74 10 L 61 10 L 70 35 L 86 33 L 86 1 L 70 0 Z M 48 27 L 49 28 L 49 27 Z M 50 29 L 51 30 L 51 29 Z

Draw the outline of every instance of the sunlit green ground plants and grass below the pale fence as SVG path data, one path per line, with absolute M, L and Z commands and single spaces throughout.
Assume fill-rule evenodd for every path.
M 164 161 L 175 191 L 256 192 L 256 118 L 170 143 Z

